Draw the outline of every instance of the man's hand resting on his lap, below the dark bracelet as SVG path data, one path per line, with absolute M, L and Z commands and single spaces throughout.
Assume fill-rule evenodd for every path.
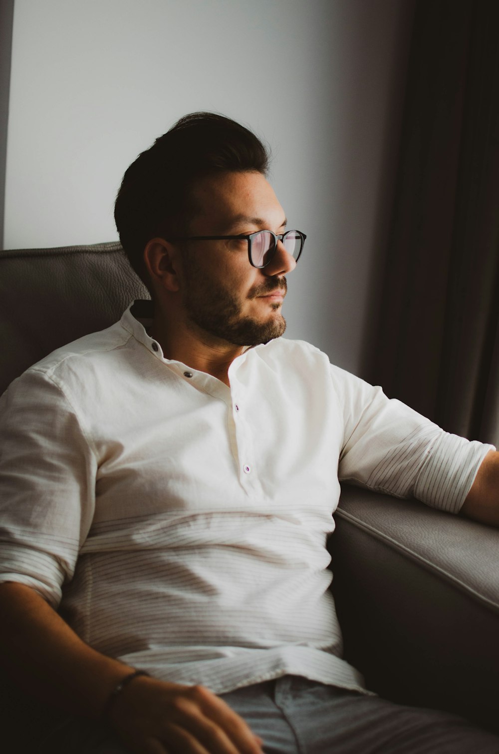
M 109 722 L 136 754 L 262 754 L 262 740 L 204 686 L 147 676 L 120 692 Z

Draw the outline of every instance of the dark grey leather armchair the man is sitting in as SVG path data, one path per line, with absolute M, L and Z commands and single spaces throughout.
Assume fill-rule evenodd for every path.
M 0 252 L 0 393 L 54 348 L 147 297 L 118 243 Z M 352 486 L 335 520 L 345 655 L 368 687 L 499 732 L 497 529 Z M 26 701 L 13 703 L 2 685 L 14 714 Z

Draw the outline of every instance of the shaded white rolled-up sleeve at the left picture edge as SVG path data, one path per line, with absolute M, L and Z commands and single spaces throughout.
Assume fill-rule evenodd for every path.
M 29 369 L 0 399 L 0 582 L 57 608 L 93 519 L 95 475 L 75 408 L 51 375 Z

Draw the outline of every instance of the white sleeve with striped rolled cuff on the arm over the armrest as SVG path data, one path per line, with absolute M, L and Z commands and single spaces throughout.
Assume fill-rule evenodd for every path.
M 339 479 L 458 513 L 494 446 L 443 431 L 337 367 L 332 379 L 344 415 Z

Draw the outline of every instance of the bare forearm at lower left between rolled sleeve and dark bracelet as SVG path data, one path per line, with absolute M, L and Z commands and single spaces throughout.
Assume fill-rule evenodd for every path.
M 75 715 L 98 718 L 113 688 L 133 671 L 81 641 L 24 584 L 0 584 L 0 662 L 26 691 Z

